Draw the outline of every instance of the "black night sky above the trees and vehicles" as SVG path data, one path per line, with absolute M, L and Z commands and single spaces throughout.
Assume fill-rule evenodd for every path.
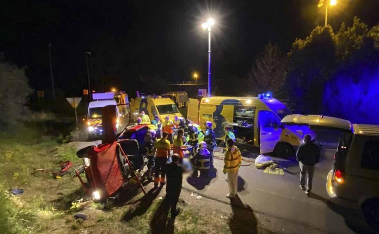
M 115 86 L 132 92 L 140 77 L 168 82 L 191 80 L 198 71 L 207 78 L 208 16 L 212 28 L 212 74 L 244 77 L 268 41 L 285 52 L 324 24 L 318 0 L 235 1 L 19 1 L 0 9 L 0 52 L 27 66 L 30 85 L 50 88 L 47 45 L 52 43 L 56 88 L 79 95 L 86 88 L 85 51 L 92 87 Z M 329 22 L 338 30 L 358 16 L 370 27 L 379 22 L 378 0 L 338 0 Z

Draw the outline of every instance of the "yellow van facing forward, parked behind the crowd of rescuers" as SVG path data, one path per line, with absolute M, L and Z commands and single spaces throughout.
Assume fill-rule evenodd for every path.
M 171 120 L 174 119 L 175 115 L 182 116 L 175 103 L 168 97 L 136 97 L 131 99 L 130 104 L 130 111 L 132 111 L 132 118 L 134 119 L 137 119 L 142 111 L 149 116 L 150 120 L 154 119 L 154 115 L 158 115 L 161 122 L 164 121 L 166 116 L 170 116 Z

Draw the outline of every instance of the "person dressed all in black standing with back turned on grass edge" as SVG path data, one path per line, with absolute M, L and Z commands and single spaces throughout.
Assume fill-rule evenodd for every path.
M 172 161 L 166 163 L 166 200 L 171 207 L 171 218 L 180 213 L 180 208 L 176 208 L 179 195 L 182 191 L 182 180 L 184 168 L 179 164 L 179 154 L 172 154 Z

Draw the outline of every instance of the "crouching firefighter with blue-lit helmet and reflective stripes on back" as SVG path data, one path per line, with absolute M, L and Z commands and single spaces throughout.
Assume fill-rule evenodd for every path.
M 207 149 L 207 143 L 205 141 L 200 141 L 199 149 L 197 149 L 196 154 L 191 158 L 191 163 L 194 167 L 194 172 L 192 176 L 197 177 L 197 171 L 200 171 L 200 176 L 208 177 L 208 172 L 210 168 L 211 153 Z

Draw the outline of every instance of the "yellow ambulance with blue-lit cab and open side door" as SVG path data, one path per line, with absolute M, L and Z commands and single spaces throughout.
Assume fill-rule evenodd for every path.
M 278 157 L 292 157 L 305 134 L 315 133 L 309 126 L 280 123 L 289 115 L 288 108 L 270 93 L 258 97 L 204 97 L 199 102 L 189 99 L 187 118 L 198 122 L 202 129 L 210 121 L 216 139 L 224 140 L 225 126 L 232 126 L 238 143 L 260 147 L 260 153 L 273 152 Z

